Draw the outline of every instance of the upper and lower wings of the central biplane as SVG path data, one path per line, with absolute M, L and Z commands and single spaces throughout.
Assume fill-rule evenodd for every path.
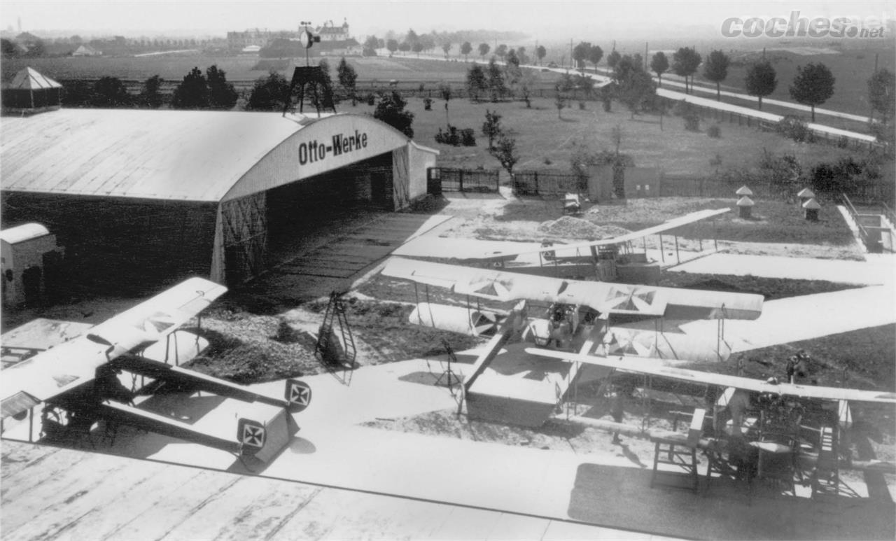
M 725 360 L 737 350 L 722 334 L 708 339 L 680 331 L 694 320 L 754 320 L 762 313 L 762 296 L 681 288 L 530 276 L 442 263 L 392 258 L 383 275 L 409 279 L 455 294 L 489 301 L 525 300 L 553 305 L 552 313 L 528 318 L 524 338 L 543 344 L 556 328 L 574 332 L 580 322 L 607 320 L 604 353 L 658 356 L 693 362 Z M 410 322 L 474 336 L 488 336 L 506 313 L 481 307 L 420 303 Z M 620 320 L 614 322 L 614 320 Z

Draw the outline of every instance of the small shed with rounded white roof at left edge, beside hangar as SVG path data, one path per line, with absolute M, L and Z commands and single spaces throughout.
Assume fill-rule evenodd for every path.
M 62 249 L 44 226 L 30 223 L 0 230 L 3 305 L 38 303 L 47 280 L 58 285 L 61 264 Z

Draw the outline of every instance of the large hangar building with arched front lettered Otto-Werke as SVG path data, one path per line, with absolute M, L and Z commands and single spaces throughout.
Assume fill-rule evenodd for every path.
M 0 125 L 4 228 L 47 226 L 94 279 L 235 285 L 271 244 L 426 193 L 436 150 L 372 116 L 61 109 Z

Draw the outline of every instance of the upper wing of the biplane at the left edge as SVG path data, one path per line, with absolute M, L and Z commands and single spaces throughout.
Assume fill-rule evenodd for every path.
M 99 365 L 164 339 L 226 291 L 207 279 L 187 279 L 82 336 L 10 366 L 0 381 L 2 416 L 90 382 Z

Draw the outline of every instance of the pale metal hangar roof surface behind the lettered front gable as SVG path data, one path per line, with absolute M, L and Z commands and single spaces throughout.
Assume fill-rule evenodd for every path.
M 0 188 L 218 202 L 302 128 L 279 113 L 62 109 L 0 124 Z

